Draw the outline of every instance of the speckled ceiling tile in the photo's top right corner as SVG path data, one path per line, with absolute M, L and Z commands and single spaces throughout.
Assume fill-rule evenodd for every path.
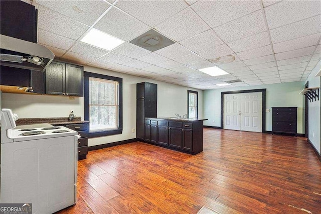
M 282 1 L 264 9 L 269 29 L 321 14 L 320 1 Z

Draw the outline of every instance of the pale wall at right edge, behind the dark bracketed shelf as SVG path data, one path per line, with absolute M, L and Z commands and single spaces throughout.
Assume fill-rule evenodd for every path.
M 320 87 L 321 86 L 321 77 L 315 77 L 315 74 L 320 70 L 321 60 L 317 63 L 315 68 L 312 70 L 307 80 L 309 82 L 309 88 L 311 87 Z M 320 140 L 320 132 L 321 132 L 321 116 L 320 116 L 320 99 L 321 99 L 321 91 L 319 91 L 319 100 L 309 102 L 308 106 L 308 122 L 309 122 L 309 133 L 308 138 L 310 142 L 313 144 L 314 148 L 321 154 L 321 140 Z

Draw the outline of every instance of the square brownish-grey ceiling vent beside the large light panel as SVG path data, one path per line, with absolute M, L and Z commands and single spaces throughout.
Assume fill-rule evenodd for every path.
M 174 44 L 172 40 L 158 33 L 155 30 L 149 30 L 146 33 L 131 40 L 130 43 L 144 48 L 148 51 L 156 51 Z

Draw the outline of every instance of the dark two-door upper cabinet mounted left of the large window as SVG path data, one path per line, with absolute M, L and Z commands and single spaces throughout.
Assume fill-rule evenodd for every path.
M 51 62 L 46 69 L 46 93 L 83 96 L 83 67 Z

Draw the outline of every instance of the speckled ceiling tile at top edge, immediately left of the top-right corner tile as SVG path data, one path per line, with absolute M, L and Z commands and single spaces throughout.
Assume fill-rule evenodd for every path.
M 199 1 L 191 7 L 211 28 L 260 10 L 258 1 Z

